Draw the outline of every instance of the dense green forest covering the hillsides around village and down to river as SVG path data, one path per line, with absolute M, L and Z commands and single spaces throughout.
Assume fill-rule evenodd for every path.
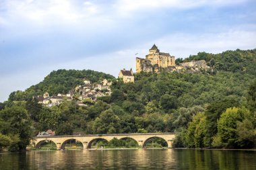
M 135 83 L 96 71 L 53 71 L 26 91 L 0 103 L 0 147 L 26 148 L 40 131 L 57 135 L 177 132 L 176 147 L 253 148 L 256 146 L 256 50 L 199 52 L 177 64 L 205 60 L 201 73 L 137 73 Z M 33 95 L 64 93 L 81 84 L 111 79 L 112 94 L 78 106 L 63 101 L 46 108 Z M 3 139 L 3 140 L 1 140 Z

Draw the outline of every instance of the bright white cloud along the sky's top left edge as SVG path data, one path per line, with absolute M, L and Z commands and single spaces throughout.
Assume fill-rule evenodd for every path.
M 71 24 L 100 13 L 100 7 L 94 3 L 69 0 L 13 0 L 7 1 L 6 7 L 11 19 L 28 19 L 34 24 L 52 24 L 52 22 Z

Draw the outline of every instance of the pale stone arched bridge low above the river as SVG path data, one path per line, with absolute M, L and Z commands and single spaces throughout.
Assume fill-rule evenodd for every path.
M 40 144 L 45 140 L 51 140 L 57 146 L 57 150 L 65 148 L 65 143 L 69 140 L 75 139 L 83 144 L 84 149 L 91 148 L 92 142 L 99 139 L 111 140 L 113 138 L 124 139 L 132 138 L 139 146 L 146 147 L 146 143 L 150 138 L 163 138 L 168 144 L 168 148 L 172 148 L 172 142 L 175 137 L 175 133 L 134 133 L 134 134 L 86 134 L 86 135 L 69 135 L 69 136 L 36 136 L 31 144 L 34 147 L 40 147 Z

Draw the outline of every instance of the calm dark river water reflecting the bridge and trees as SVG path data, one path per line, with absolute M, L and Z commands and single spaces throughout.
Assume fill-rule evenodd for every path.
M 0 169 L 256 169 L 256 151 L 135 149 L 1 153 Z

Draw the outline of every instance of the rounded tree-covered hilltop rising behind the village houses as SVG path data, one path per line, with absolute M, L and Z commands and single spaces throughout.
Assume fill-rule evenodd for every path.
M 10 101 L 26 100 L 33 95 L 42 95 L 46 91 L 50 95 L 57 95 L 58 93 L 67 93 L 74 89 L 77 85 L 82 85 L 84 79 L 90 80 L 92 83 L 102 81 L 103 79 L 115 79 L 112 75 L 92 71 L 92 70 L 65 70 L 60 69 L 52 71 L 47 75 L 43 81 L 36 85 L 32 85 L 26 91 L 13 91 L 9 95 Z

